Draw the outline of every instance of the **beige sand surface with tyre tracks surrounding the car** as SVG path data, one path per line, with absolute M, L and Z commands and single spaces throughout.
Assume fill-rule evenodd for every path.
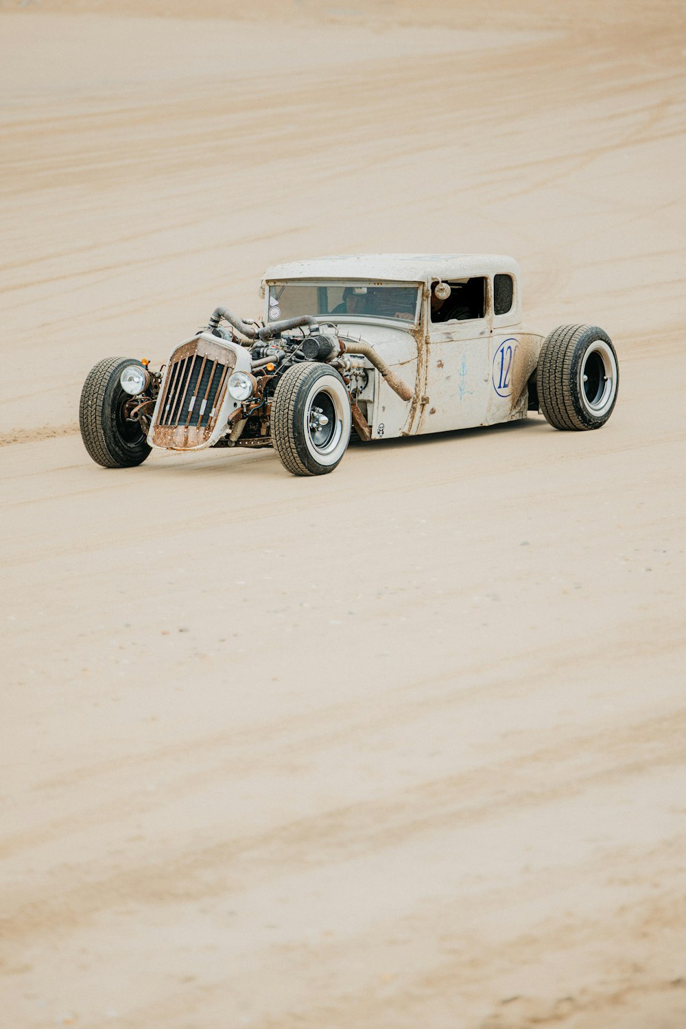
M 684 1029 L 680 0 L 0 7 L 0 1026 Z M 276 260 L 501 251 L 620 401 L 93 464 Z

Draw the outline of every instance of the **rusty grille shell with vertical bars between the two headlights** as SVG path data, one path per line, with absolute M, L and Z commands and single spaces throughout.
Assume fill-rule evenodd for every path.
M 172 354 L 160 389 L 150 438 L 168 450 L 196 450 L 212 436 L 236 367 L 236 354 L 197 336 Z

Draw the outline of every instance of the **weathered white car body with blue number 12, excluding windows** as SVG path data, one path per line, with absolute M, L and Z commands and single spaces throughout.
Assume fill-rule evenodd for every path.
M 512 306 L 507 314 L 494 313 L 497 275 L 512 279 Z M 432 283 L 481 277 L 485 279 L 482 318 L 432 323 Z M 372 439 L 467 429 L 527 417 L 527 383 L 544 338 L 521 325 L 519 269 L 511 257 L 361 254 L 276 264 L 262 280 L 265 323 L 269 320 L 270 288 L 275 282 L 291 280 L 421 285 L 421 310 L 411 327 L 394 319 L 365 319 L 363 315 L 335 319 L 338 335 L 351 353 L 356 340 L 371 344 L 413 392 L 410 401 L 402 400 L 365 362 L 369 381 L 358 404 L 365 410 Z

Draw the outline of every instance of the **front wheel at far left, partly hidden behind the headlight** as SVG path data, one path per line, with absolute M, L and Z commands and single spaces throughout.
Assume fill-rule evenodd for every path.
M 107 357 L 98 361 L 83 384 L 78 412 L 81 438 L 103 468 L 132 468 L 150 453 L 139 423 L 127 420 L 124 403 L 132 397 L 119 383 L 128 364 L 140 363 L 127 357 Z

